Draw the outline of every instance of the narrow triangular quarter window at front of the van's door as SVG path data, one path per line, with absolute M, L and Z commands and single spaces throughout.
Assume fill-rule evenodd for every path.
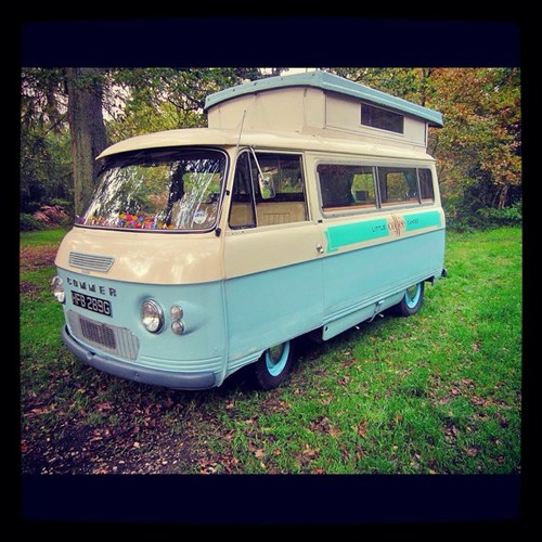
M 242 153 L 235 166 L 233 179 L 232 204 L 230 208 L 230 228 L 255 228 L 256 215 L 253 197 L 253 176 L 250 156 Z

